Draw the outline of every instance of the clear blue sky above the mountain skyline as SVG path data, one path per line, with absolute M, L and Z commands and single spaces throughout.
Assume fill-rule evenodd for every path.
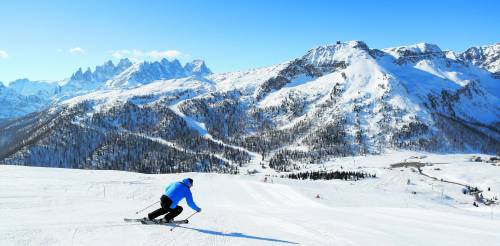
M 463 51 L 500 42 L 499 11 L 500 1 L 461 0 L 3 1 L 0 81 L 63 79 L 120 56 L 201 58 L 234 71 L 336 40 Z

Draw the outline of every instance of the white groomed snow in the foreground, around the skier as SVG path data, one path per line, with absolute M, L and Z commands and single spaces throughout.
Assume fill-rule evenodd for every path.
M 498 196 L 500 166 L 471 157 L 389 152 L 304 167 L 377 176 L 359 181 L 284 179 L 269 169 L 140 174 L 1 165 L 0 245 L 500 245 L 500 209 L 475 207 L 462 186 L 440 181 Z M 422 173 L 412 165 L 391 167 L 402 162 L 425 166 Z M 271 177 L 263 182 L 266 172 Z M 194 179 L 203 209 L 189 224 L 171 231 L 172 225 L 124 222 L 144 217 L 135 212 L 185 177 Z M 178 219 L 194 212 L 180 205 Z

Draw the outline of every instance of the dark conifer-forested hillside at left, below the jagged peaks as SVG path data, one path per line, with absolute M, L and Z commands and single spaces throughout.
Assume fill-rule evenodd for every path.
M 82 103 L 58 114 L 57 127 L 52 127 L 50 134 L 34 134 L 34 144 L 23 146 L 3 162 L 144 173 L 237 173 L 237 166 L 213 154 L 220 153 L 233 164 L 250 160 L 246 152 L 201 138 L 167 107 L 125 103 L 81 117 L 90 107 Z M 172 140 L 179 148 L 154 141 L 154 137 Z

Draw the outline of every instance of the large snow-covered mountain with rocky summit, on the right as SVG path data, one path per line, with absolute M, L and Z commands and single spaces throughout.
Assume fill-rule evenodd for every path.
M 453 136 L 457 133 L 443 134 L 453 119 L 463 125 L 452 128 L 475 125 L 473 128 L 494 136 L 498 143 L 499 80 L 465 61 L 447 57 L 433 44 L 381 51 L 360 41 L 339 42 L 314 48 L 274 71 L 263 81 L 252 73 L 235 73 L 232 81 L 236 81 L 233 88 L 255 88 L 257 110 L 269 115 L 278 129 L 308 123 L 311 131 L 321 131 L 338 124 L 347 138 L 337 144 L 352 144 L 357 139 L 359 148 L 369 152 L 380 145 L 427 145 L 428 150 L 449 151 L 456 148 L 457 141 L 463 144 L 467 135 L 476 134 L 462 132 L 462 139 Z M 212 79 L 227 88 L 231 79 L 226 77 L 231 74 Z M 300 137 L 297 140 L 291 144 L 310 144 Z M 477 151 L 477 143 L 459 149 Z M 350 151 L 359 149 L 342 152 Z

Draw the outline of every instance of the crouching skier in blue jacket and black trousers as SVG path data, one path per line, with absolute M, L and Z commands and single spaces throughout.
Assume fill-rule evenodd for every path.
M 161 208 L 148 214 L 147 218 L 153 220 L 156 217 L 166 214 L 162 219 L 162 222 L 171 222 L 173 219 L 182 213 L 182 207 L 177 204 L 184 198 L 186 202 L 193 210 L 196 212 L 201 212 L 196 203 L 193 201 L 193 195 L 191 194 L 191 187 L 193 187 L 193 179 L 187 178 L 180 182 L 174 182 L 165 187 L 165 191 L 160 198 Z

